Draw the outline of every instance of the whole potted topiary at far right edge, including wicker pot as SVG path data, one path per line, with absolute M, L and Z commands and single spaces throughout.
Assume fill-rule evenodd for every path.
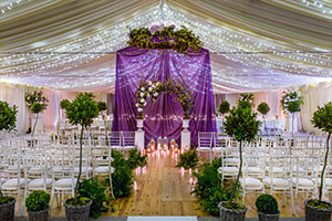
M 330 221 L 331 212 L 332 212 L 332 204 L 330 202 L 322 201 L 322 192 L 323 192 L 323 185 L 324 185 L 324 175 L 325 168 L 329 158 L 330 151 L 330 138 L 332 134 L 332 103 L 325 104 L 323 107 L 318 107 L 318 109 L 313 113 L 313 117 L 311 123 L 314 127 L 328 133 L 326 138 L 326 151 L 324 158 L 324 166 L 321 173 L 321 183 L 320 183 L 320 191 L 319 191 L 319 199 L 318 200 L 305 200 L 305 220 L 315 220 L 315 221 Z

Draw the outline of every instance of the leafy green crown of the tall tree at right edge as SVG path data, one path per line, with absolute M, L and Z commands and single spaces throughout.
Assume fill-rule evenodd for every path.
M 329 102 L 323 107 L 319 106 L 313 113 L 311 123 L 323 131 L 332 133 L 332 103 Z

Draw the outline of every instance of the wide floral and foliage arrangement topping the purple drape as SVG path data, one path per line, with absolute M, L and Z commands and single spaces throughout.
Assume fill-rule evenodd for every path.
M 139 49 L 173 49 L 183 54 L 187 54 L 190 50 L 199 52 L 203 48 L 199 36 L 184 25 L 179 30 L 176 30 L 175 25 L 134 29 L 131 30 L 127 43 Z

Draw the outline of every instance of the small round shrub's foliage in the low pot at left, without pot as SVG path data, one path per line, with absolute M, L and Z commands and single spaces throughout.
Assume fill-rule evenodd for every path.
M 51 196 L 44 190 L 35 190 L 25 199 L 27 210 L 38 212 L 46 210 L 50 207 Z

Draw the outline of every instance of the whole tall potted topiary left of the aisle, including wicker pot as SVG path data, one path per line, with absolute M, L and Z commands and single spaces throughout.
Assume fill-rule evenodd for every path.
M 89 220 L 92 200 L 79 194 L 82 173 L 82 146 L 84 129 L 92 125 L 93 119 L 98 116 L 98 106 L 93 101 L 91 93 L 80 93 L 76 98 L 65 107 L 65 115 L 72 125 L 81 125 L 80 136 L 80 167 L 73 198 L 64 202 L 65 215 L 69 221 Z

